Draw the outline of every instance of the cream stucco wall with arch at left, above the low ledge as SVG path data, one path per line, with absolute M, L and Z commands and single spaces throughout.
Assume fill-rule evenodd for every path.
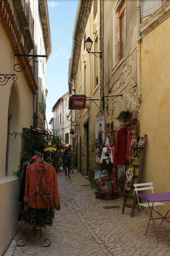
M 0 70 L 1 74 L 13 74 L 13 65 L 17 63 L 17 58 L 14 58 L 12 47 L 8 41 L 8 37 L 4 32 L 3 26 L 0 24 L 0 47 L 1 62 Z M 10 111 L 12 112 L 12 119 L 10 125 L 10 132 L 22 132 L 23 127 L 30 127 L 33 125 L 33 93 L 29 88 L 26 78 L 22 72 L 17 73 L 18 79 L 13 82 L 12 79 L 8 81 L 4 86 L 0 86 L 0 107 L 3 111 L 0 111 L 1 120 L 1 148 L 0 148 L 0 178 L 4 177 L 5 162 L 6 162 L 6 138 L 7 138 L 7 125 L 8 125 L 8 106 L 11 104 Z M 15 87 L 15 90 L 13 88 Z M 17 118 L 16 118 L 17 116 Z M 14 147 L 12 147 L 12 140 Z M 17 141 L 17 142 L 16 142 Z M 9 173 L 12 175 L 13 171 L 18 170 L 20 161 L 21 139 L 10 137 L 10 163 Z

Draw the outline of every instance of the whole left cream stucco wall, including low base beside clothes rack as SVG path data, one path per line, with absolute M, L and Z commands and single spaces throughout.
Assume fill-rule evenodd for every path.
M 13 74 L 13 65 L 17 63 L 14 52 L 0 22 L 1 74 Z M 6 141 L 8 127 L 8 107 L 10 102 L 10 132 L 22 132 L 23 127 L 33 125 L 33 93 L 22 72 L 16 73 L 17 81 L 12 79 L 0 86 L 0 256 L 12 241 L 17 230 L 18 220 L 18 179 L 13 171 L 19 169 L 21 138 L 10 136 L 8 174 L 5 176 Z

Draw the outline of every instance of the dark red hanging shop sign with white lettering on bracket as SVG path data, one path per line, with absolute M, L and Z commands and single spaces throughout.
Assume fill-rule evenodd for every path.
M 68 109 L 84 109 L 86 108 L 86 95 L 73 94 L 68 102 Z

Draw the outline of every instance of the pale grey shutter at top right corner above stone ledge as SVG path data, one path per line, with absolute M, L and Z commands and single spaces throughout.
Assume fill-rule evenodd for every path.
M 154 13 L 162 4 L 162 0 L 141 0 L 142 17 Z

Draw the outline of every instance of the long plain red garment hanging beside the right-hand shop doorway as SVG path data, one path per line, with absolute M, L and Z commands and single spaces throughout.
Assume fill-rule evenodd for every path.
M 115 143 L 115 164 L 126 164 L 126 151 L 127 151 L 127 127 L 121 127 L 117 132 Z

